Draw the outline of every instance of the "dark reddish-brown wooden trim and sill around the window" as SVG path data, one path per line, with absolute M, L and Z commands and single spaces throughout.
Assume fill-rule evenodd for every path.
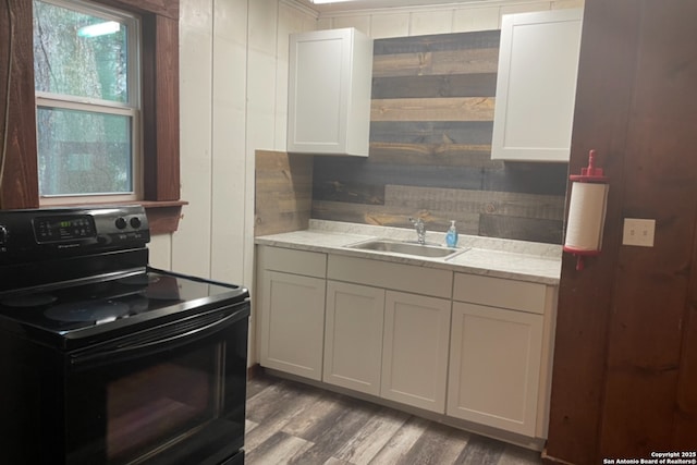
M 143 200 L 154 234 L 176 230 L 180 199 L 179 0 L 89 0 L 142 20 Z M 32 2 L 0 2 L 0 209 L 37 208 Z M 120 203 L 127 204 L 127 203 Z

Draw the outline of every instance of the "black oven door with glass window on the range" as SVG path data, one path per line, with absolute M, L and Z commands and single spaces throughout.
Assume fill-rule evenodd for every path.
M 220 464 L 244 442 L 247 302 L 66 360 L 65 463 Z

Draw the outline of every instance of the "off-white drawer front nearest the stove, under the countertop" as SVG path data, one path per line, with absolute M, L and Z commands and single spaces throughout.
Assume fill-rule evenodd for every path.
M 327 254 L 292 248 L 257 246 L 259 269 L 315 278 L 327 276 Z

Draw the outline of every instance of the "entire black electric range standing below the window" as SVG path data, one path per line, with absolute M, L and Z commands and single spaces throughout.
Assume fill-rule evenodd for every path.
M 3 460 L 244 463 L 249 293 L 149 240 L 140 206 L 0 211 Z

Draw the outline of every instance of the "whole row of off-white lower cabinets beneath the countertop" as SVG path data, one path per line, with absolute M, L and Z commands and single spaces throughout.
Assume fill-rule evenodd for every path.
M 546 438 L 557 289 L 258 247 L 260 364 Z

